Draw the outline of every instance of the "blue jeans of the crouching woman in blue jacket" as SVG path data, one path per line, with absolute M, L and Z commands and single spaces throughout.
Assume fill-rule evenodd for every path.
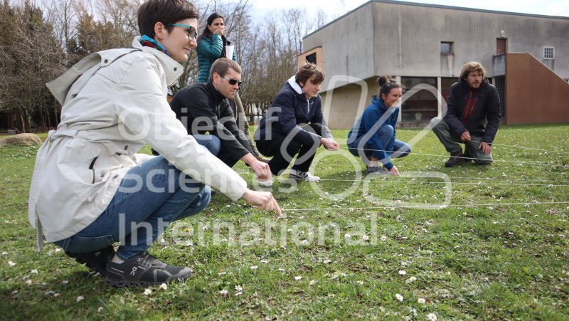
M 405 157 L 411 153 L 411 147 L 406 142 L 395 140 L 395 131 L 393 127 L 390 125 L 383 125 L 379 127 L 379 138 L 381 140 L 381 145 L 383 146 L 383 150 L 385 154 L 389 157 L 389 159 Z M 375 151 L 369 150 L 373 149 L 372 145 L 369 142 L 363 145 L 364 150 L 358 149 L 358 144 L 360 143 L 363 136 L 358 137 L 353 142 L 350 142 L 348 145 L 348 149 L 353 154 L 353 156 L 359 156 L 363 160 L 363 162 L 368 165 L 369 159 Z M 373 137 L 372 137 L 373 138 Z M 388 159 L 385 159 L 388 161 Z

